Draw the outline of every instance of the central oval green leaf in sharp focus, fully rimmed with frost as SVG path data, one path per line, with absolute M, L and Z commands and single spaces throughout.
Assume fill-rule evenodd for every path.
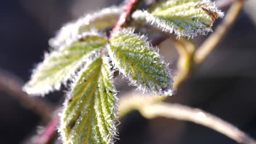
M 121 29 L 110 38 L 109 56 L 138 89 L 160 96 L 172 95 L 171 70 L 146 39 L 133 33 L 133 29 Z

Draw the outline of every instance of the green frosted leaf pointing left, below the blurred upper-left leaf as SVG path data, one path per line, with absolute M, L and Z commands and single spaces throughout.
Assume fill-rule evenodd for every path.
M 44 61 L 33 70 L 31 80 L 24 86 L 28 94 L 44 95 L 60 89 L 88 59 L 100 53 L 107 38 L 100 34 L 84 33 L 79 40 L 45 55 Z

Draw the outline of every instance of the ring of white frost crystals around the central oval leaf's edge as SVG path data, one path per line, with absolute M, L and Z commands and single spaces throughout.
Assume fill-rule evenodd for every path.
M 130 82 L 129 82 L 129 85 L 132 85 L 132 86 L 137 86 L 137 89 L 136 90 L 139 90 L 139 91 L 142 91 L 143 94 L 150 94 L 150 95 L 158 95 L 159 97 L 162 97 L 162 96 L 168 96 L 168 95 L 172 95 L 173 94 L 173 75 L 171 74 L 172 73 L 172 69 L 170 69 L 168 67 L 168 63 L 165 63 L 164 62 L 164 59 L 163 57 L 159 54 L 159 50 L 157 47 L 154 47 L 152 46 L 149 41 L 147 41 L 147 36 L 146 35 L 139 35 L 139 34 L 136 34 L 134 33 L 135 32 L 135 28 L 132 28 L 132 27 L 128 27 L 128 28 L 122 28 L 120 29 L 119 31 L 117 32 L 114 32 L 112 34 L 112 37 L 111 38 L 114 38 L 115 36 L 119 35 L 119 34 L 131 34 L 132 36 L 135 36 L 137 39 L 140 39 L 142 41 L 144 41 L 144 43 L 146 44 L 146 47 L 148 47 L 148 49 L 151 49 L 155 52 L 156 56 L 160 57 L 159 61 L 165 65 L 165 68 L 167 70 L 167 74 L 170 76 L 170 87 L 164 89 L 161 88 L 161 87 L 158 87 L 158 92 L 156 91 L 152 91 L 152 89 L 149 89 L 149 88 L 146 88 L 144 87 L 143 85 L 141 85 L 140 83 L 138 83 L 136 80 L 133 80 L 132 77 L 130 76 L 130 73 L 131 71 L 129 71 L 128 74 L 126 74 L 125 70 L 120 68 L 119 65 L 117 65 L 119 62 L 117 61 L 116 58 L 114 58 L 114 53 L 111 52 L 111 47 L 110 45 L 108 44 L 107 45 L 107 49 L 109 51 L 109 56 L 112 60 L 112 63 L 113 63 L 113 66 L 114 66 L 114 69 L 118 69 L 124 76 L 126 79 L 128 79 Z M 109 41 L 111 41 L 111 38 Z

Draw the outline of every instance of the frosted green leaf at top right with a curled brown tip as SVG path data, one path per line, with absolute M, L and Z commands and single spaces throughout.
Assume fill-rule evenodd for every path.
M 145 20 L 162 31 L 188 38 L 211 32 L 213 23 L 223 16 L 210 0 L 161 1 L 149 11 L 137 10 L 132 14 L 133 19 Z

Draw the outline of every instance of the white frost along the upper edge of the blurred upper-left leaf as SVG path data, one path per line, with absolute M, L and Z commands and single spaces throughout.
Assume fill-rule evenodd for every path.
M 119 15 L 123 11 L 124 6 L 116 6 L 113 5 L 109 8 L 103 8 L 99 11 L 96 11 L 91 14 L 85 14 L 84 16 L 80 17 L 78 20 L 74 22 L 69 22 L 65 26 L 63 26 L 57 35 L 54 38 L 49 40 L 49 45 L 54 48 L 58 48 L 61 45 L 68 45 L 70 41 L 77 38 L 79 35 L 79 28 L 89 25 L 91 21 L 94 21 L 97 18 L 104 17 L 109 14 Z

